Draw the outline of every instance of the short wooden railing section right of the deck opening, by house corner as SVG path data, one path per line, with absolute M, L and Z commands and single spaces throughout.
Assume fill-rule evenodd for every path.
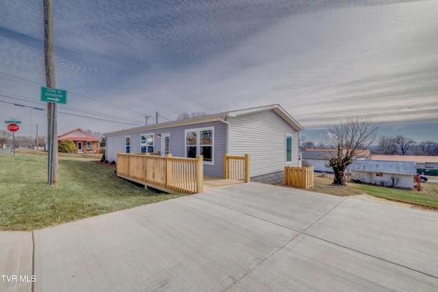
M 236 181 L 250 181 L 250 155 L 230 156 L 224 154 L 224 178 Z

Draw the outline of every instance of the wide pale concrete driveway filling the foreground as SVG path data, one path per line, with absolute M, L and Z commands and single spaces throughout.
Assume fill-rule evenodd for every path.
M 438 213 L 247 183 L 2 232 L 35 281 L 0 291 L 437 291 L 437 239 Z

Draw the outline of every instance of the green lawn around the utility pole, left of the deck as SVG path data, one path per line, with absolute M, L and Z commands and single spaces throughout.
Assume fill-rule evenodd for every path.
M 34 230 L 182 195 L 155 194 L 92 161 L 61 159 L 47 184 L 47 156 L 0 154 L 0 230 Z

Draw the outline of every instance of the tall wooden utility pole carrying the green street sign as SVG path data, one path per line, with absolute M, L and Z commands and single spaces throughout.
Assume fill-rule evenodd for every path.
M 44 1 L 44 60 L 46 86 L 56 88 L 55 54 L 53 53 L 53 8 L 52 0 Z M 57 106 L 47 103 L 47 142 L 49 142 L 49 185 L 57 185 Z

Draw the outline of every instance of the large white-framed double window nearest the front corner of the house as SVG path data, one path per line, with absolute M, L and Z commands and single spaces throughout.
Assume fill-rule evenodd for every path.
M 205 164 L 214 164 L 214 127 L 185 130 L 185 157 L 203 155 Z

